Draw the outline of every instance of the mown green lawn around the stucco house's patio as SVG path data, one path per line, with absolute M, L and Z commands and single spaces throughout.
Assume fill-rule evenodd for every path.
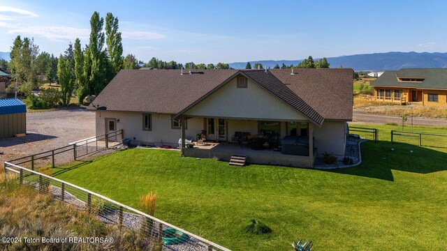
M 381 140 L 396 128 L 369 127 Z M 446 250 L 447 149 L 366 142 L 362 156 L 358 167 L 320 171 L 132 149 L 53 174 L 134 207 L 156 191 L 156 217 L 232 250 L 291 250 L 297 238 L 314 250 Z M 242 233 L 252 218 L 272 234 Z

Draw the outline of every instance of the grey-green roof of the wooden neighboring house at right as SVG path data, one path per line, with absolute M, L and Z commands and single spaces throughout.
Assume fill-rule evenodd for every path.
M 399 82 L 398 77 L 424 78 L 423 82 Z M 396 86 L 417 89 L 447 89 L 447 69 L 444 68 L 404 68 L 388 70 L 371 86 Z

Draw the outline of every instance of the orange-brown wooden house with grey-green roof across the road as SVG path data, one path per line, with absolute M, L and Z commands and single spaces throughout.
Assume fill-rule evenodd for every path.
M 375 100 L 416 105 L 447 105 L 447 69 L 389 70 L 372 82 Z

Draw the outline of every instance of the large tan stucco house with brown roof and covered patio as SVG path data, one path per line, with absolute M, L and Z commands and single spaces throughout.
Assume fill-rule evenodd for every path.
M 244 151 L 249 162 L 312 167 L 325 152 L 344 156 L 352 82 L 351 69 L 122 70 L 89 109 L 101 107 L 96 135 L 123 129 L 134 143 L 177 147 L 179 139 L 185 145 L 203 130 L 207 141 L 228 143 L 245 132 L 254 139 L 276 139 L 267 143 L 276 150 L 287 144 L 290 152 L 249 151 L 244 142 L 234 142 L 220 144 L 227 149 L 219 151 L 198 146 L 183 147 L 182 153 L 228 160 Z

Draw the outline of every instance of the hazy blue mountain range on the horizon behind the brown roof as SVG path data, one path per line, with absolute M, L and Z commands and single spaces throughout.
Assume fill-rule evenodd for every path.
M 386 52 L 373 54 L 356 54 L 351 56 L 328 57 L 330 68 L 353 68 L 354 70 L 399 70 L 400 68 L 447 68 L 447 53 L 440 52 Z M 250 61 L 253 67 L 255 63 L 262 63 L 264 67 L 273 68 L 285 63 L 286 66 L 296 66 L 300 60 L 261 60 Z M 314 59 L 316 60 L 316 59 Z M 230 63 L 230 67 L 244 69 L 247 62 Z

